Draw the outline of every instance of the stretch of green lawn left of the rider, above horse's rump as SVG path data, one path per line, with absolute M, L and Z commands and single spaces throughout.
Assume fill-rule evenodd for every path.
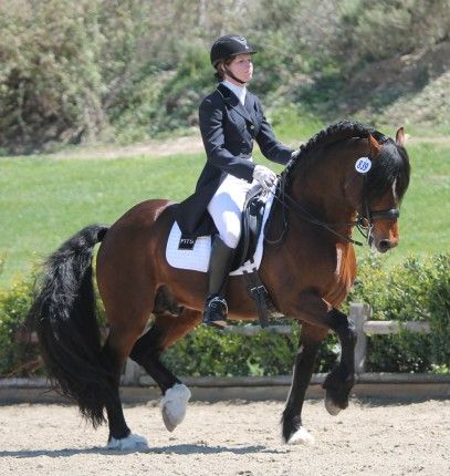
M 202 156 L 0 161 L 0 288 L 93 223 L 111 224 L 147 198 L 193 189 Z

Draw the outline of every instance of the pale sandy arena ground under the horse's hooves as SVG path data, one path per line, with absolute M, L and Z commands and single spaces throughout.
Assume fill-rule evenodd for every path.
M 0 407 L 1 475 L 421 475 L 450 474 L 450 401 L 353 401 L 338 416 L 307 401 L 304 423 L 314 446 L 280 439 L 280 402 L 192 403 L 168 433 L 156 402 L 128 406 L 145 453 L 103 449 L 73 406 Z

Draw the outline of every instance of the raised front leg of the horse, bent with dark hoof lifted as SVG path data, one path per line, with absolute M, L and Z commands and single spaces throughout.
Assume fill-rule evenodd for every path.
M 337 415 L 348 406 L 348 395 L 355 384 L 355 344 L 354 323 L 337 309 L 328 312 L 331 329 L 341 342 L 341 362 L 327 375 L 323 387 L 326 390 L 325 407 L 331 415 Z

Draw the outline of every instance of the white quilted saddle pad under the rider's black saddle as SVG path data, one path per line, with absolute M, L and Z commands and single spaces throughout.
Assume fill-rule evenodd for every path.
M 259 269 L 263 251 L 264 226 L 268 220 L 270 209 L 273 203 L 273 195 L 269 194 L 265 201 L 264 216 L 262 218 L 261 234 L 258 238 L 257 250 L 253 256 L 253 263 L 250 260 L 245 261 L 239 269 L 230 272 L 231 276 L 243 275 L 243 271 L 251 272 L 254 268 Z M 169 239 L 166 247 L 166 259 L 172 268 L 191 269 L 192 271 L 208 271 L 209 256 L 211 253 L 211 237 L 198 237 L 193 249 L 178 249 L 181 238 L 181 230 L 175 221 L 171 227 Z

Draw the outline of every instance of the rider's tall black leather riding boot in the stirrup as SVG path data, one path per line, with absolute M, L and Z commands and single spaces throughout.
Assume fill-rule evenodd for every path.
M 203 312 L 205 324 L 220 329 L 227 327 L 228 306 L 224 300 L 224 293 L 234 251 L 236 249 L 229 248 L 219 236 L 214 237 L 208 269 L 208 294 Z

